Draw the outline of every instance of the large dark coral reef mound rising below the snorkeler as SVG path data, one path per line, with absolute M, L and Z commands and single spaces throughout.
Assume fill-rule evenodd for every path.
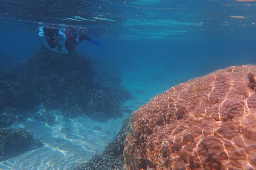
M 0 118 L 3 122 L 0 122 L 0 127 L 17 119 L 22 121 L 19 115 L 23 118 L 34 116 L 44 122 L 54 121 L 54 117 L 47 113 L 34 114 L 39 106 L 47 110 L 60 109 L 60 114 L 70 118 L 85 114 L 106 121 L 122 116 L 121 104 L 131 98 L 130 92 L 120 86 L 121 78 L 117 75 L 111 74 L 113 78 L 104 85 L 105 80 L 96 72 L 108 70 L 93 70 L 90 58 L 75 52 L 60 55 L 44 46 L 26 63 L 11 69 L 2 68 Z M 93 80 L 94 77 L 97 81 Z M 111 80 L 114 82 L 109 85 Z M 101 119 L 98 119 L 99 115 Z

